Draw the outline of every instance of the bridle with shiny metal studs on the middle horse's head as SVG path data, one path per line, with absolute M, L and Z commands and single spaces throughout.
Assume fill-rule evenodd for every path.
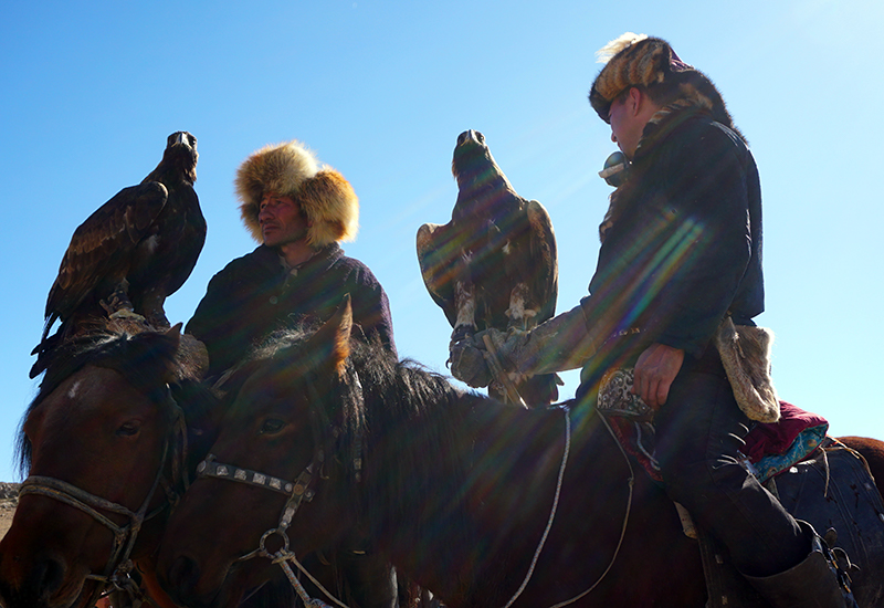
M 354 394 L 361 399 L 362 390 L 361 384 L 359 382 L 359 375 L 355 369 L 350 368 L 350 382 L 352 382 L 352 386 L 356 389 L 354 390 Z M 315 479 L 328 479 L 324 473 L 324 465 L 326 461 L 324 447 L 326 445 L 327 441 L 325 439 L 326 433 L 323 432 L 323 429 L 330 429 L 334 438 L 340 438 L 343 434 L 340 428 L 332 423 L 330 419 L 325 412 L 325 409 L 320 406 L 322 398 L 319 397 L 319 392 L 316 390 L 316 386 L 313 381 L 313 374 L 307 373 L 304 374 L 304 376 L 307 385 L 307 398 L 309 402 L 308 416 L 311 418 L 311 429 L 314 438 L 314 454 L 309 464 L 307 464 L 301 471 L 294 481 L 285 481 L 266 473 L 253 471 L 251 469 L 243 469 L 233 464 L 218 462 L 214 454 L 209 454 L 206 457 L 206 460 L 197 465 L 197 478 L 230 480 L 254 488 L 263 488 L 265 490 L 271 490 L 288 496 L 288 500 L 285 502 L 282 513 L 280 514 L 280 520 L 276 524 L 276 527 L 272 527 L 264 532 L 264 534 L 261 535 L 257 548 L 239 557 L 236 562 L 245 562 L 254 557 L 266 557 L 274 564 L 280 565 L 285 573 L 285 576 L 288 578 L 288 581 L 292 584 L 292 587 L 301 597 L 302 601 L 304 601 L 305 606 L 313 606 L 317 608 L 327 607 L 327 604 L 317 598 L 312 598 L 309 594 L 307 594 L 306 589 L 288 565 L 288 562 L 292 562 L 297 569 L 301 570 L 304 576 L 306 576 L 314 585 L 316 585 L 316 587 L 323 591 L 334 604 L 341 608 L 347 608 L 346 604 L 341 602 L 338 598 L 332 595 L 330 591 L 328 591 L 309 572 L 307 572 L 307 569 L 297 559 L 295 553 L 290 549 L 287 531 L 288 526 L 292 524 L 295 513 L 297 513 L 297 510 L 301 507 L 302 503 L 311 502 L 316 494 L 315 489 L 312 486 L 313 481 Z M 362 467 L 361 438 L 359 437 L 359 433 L 357 433 L 355 441 L 351 465 L 355 479 L 358 482 L 360 480 Z M 267 541 L 273 536 L 278 536 L 282 541 L 282 547 L 276 552 L 271 552 L 266 547 Z

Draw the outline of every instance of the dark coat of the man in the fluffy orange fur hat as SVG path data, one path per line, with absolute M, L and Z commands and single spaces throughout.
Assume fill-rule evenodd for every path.
M 327 321 L 347 293 L 354 324 L 367 339 L 379 338 L 396 355 L 383 287 L 368 266 L 344 255 L 337 243 L 292 272 L 265 245 L 233 260 L 209 282 L 186 331 L 206 344 L 212 377 L 242 360 L 276 329 Z

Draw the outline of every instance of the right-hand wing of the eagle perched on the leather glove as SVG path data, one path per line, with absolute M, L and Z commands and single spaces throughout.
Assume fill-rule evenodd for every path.
M 559 292 L 558 253 L 556 233 L 546 208 L 536 200 L 528 201 L 525 212 L 530 230 L 530 260 L 533 272 L 529 277 L 529 294 L 537 306 L 537 323 L 556 314 L 556 300 Z

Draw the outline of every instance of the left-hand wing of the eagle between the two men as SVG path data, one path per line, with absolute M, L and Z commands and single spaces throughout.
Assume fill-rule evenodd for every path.
M 457 311 L 454 304 L 454 276 L 461 264 L 461 248 L 451 222 L 425 223 L 418 229 L 418 263 L 427 291 L 454 326 Z

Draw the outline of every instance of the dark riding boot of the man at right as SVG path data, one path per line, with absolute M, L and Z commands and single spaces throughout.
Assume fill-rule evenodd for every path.
M 800 564 L 772 576 L 744 577 L 774 608 L 857 608 L 846 554 L 829 548 L 807 522 L 798 524 L 811 535 L 810 554 Z

